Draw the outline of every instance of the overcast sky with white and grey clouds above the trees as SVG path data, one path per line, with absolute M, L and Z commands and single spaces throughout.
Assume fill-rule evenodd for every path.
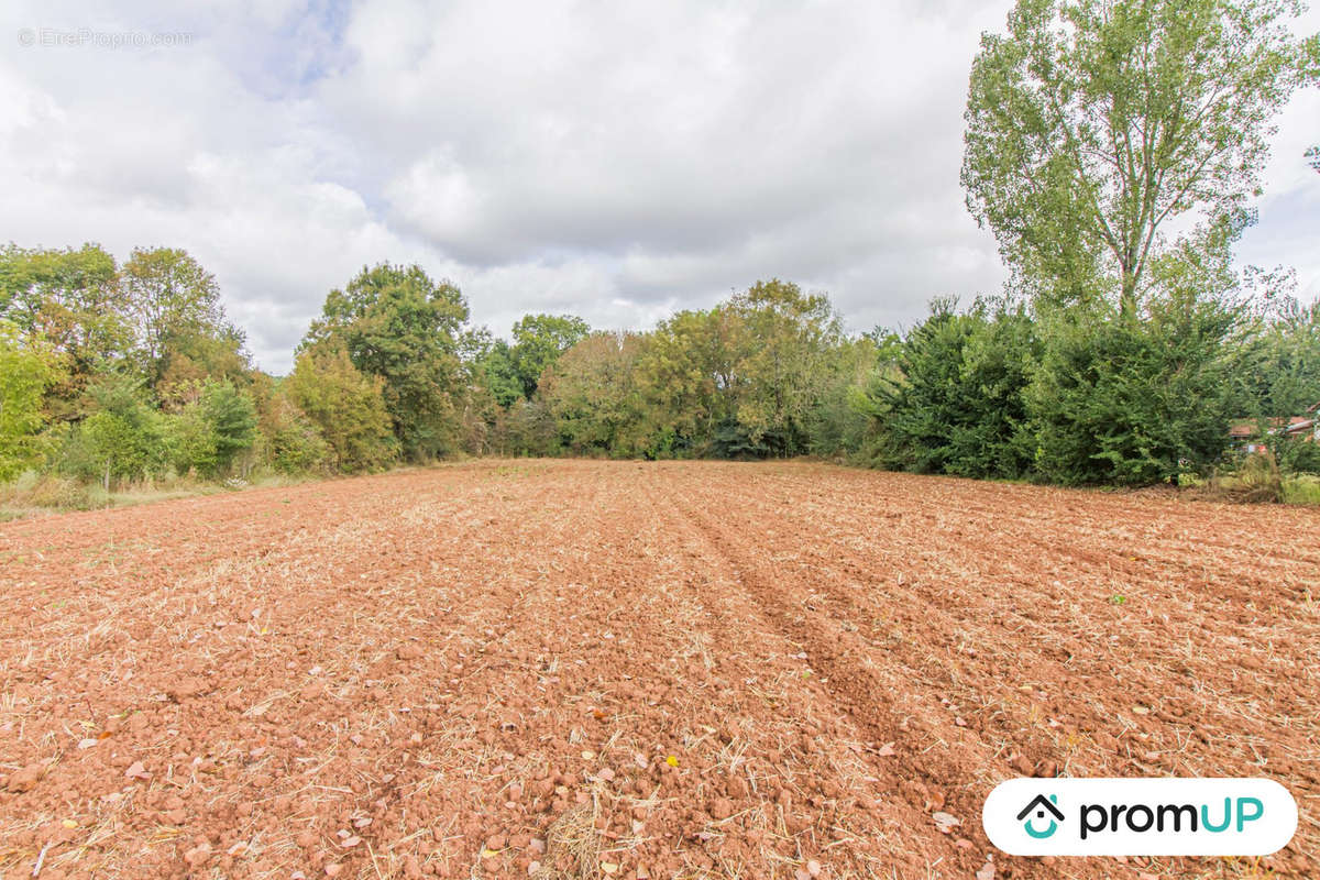
M 186 248 L 273 372 L 381 260 L 455 281 L 499 334 L 528 311 L 647 327 L 771 276 L 854 330 L 909 323 L 1005 277 L 958 168 L 977 40 L 1010 5 L 8 0 L 0 240 Z M 1241 247 L 1305 298 L 1316 141 L 1304 94 Z

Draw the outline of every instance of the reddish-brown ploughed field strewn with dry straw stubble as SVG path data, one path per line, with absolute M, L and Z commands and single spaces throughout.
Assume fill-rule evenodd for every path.
M 479 462 L 0 526 L 0 876 L 1320 876 L 1320 513 Z M 1267 860 L 1015 859 L 1022 774 Z

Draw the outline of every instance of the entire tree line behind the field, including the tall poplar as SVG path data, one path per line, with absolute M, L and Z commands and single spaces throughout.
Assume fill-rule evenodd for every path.
M 903 330 L 846 332 L 825 294 L 771 278 L 644 332 L 531 314 L 502 339 L 455 285 L 383 263 L 326 296 L 279 377 L 185 251 L 11 244 L 0 479 L 810 454 L 1139 486 L 1230 464 L 1234 420 L 1320 470 L 1320 445 L 1274 430 L 1320 401 L 1320 306 L 1232 260 L 1271 119 L 1320 82 L 1296 11 L 1020 0 L 973 62 L 962 165 L 1011 281 Z

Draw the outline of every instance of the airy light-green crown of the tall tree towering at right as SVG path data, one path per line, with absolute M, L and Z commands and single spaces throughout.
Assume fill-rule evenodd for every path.
M 1134 314 L 1168 230 L 1243 214 L 1271 120 L 1320 75 L 1288 0 L 1019 0 L 985 34 L 962 183 L 1030 289 Z

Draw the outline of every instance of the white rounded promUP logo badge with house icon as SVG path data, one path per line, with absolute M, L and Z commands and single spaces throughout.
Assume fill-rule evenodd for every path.
M 1012 855 L 1269 855 L 1298 805 L 1262 778 L 1020 778 L 990 793 L 981 823 Z

